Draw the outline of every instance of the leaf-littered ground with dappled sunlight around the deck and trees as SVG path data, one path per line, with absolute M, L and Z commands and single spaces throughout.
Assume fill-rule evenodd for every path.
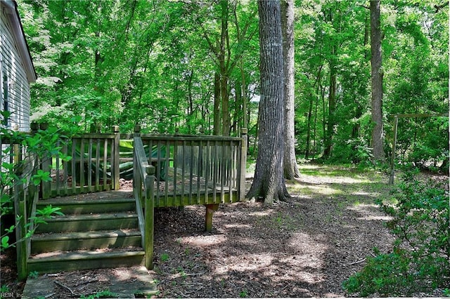
M 388 178 L 342 166 L 306 164 L 300 171 L 300 179 L 288 183 L 292 199 L 270 207 L 257 201 L 221 205 L 212 232 L 204 232 L 203 206 L 155 211 L 155 268 L 149 273 L 157 297 L 347 295 L 342 282 L 361 270 L 373 248 L 392 248 L 393 237 L 383 225 L 387 217 L 374 204 L 390 199 Z M 1 286 L 20 294 L 13 255 L 1 255 Z M 96 293 L 108 288 L 98 277 L 115 272 L 65 272 L 60 282 L 69 286 L 89 276 Z M 53 298 L 74 297 L 60 288 Z

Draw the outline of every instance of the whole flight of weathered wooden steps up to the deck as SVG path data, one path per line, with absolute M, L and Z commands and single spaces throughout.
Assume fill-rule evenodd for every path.
M 37 209 L 60 207 L 31 239 L 28 271 L 51 273 L 142 265 L 141 232 L 134 199 L 61 197 Z

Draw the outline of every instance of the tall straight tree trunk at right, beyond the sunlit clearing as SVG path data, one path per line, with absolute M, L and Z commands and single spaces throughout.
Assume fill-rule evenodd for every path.
M 383 150 L 383 70 L 381 69 L 380 0 L 371 1 L 371 81 L 372 81 L 372 154 L 375 161 L 385 160 Z

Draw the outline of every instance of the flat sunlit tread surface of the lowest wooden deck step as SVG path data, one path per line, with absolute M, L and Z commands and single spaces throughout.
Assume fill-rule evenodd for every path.
M 107 248 L 96 251 L 52 251 L 30 255 L 28 263 L 48 263 L 64 260 L 92 260 L 98 258 L 124 258 L 129 256 L 144 255 L 142 248 Z

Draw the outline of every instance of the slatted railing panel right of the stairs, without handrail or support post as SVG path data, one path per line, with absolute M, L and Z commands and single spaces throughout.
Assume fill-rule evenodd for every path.
M 245 134 L 140 137 L 155 166 L 155 206 L 220 204 L 245 196 Z

